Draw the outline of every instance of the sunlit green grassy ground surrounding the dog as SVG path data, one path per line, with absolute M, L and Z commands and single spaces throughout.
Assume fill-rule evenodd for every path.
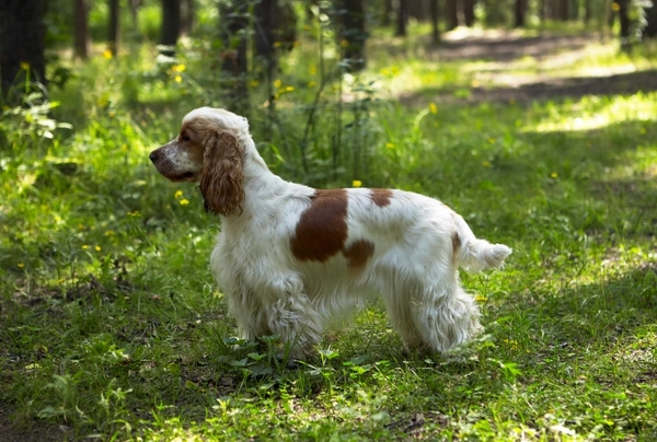
M 53 139 L 36 135 L 47 117 L 5 109 L 0 433 L 657 439 L 657 58 L 520 37 L 428 50 L 376 36 L 368 71 L 328 83 L 307 139 L 296 133 L 321 66 L 301 47 L 276 86 L 275 124 L 252 111 L 286 178 L 420 191 L 514 247 L 503 271 L 462 276 L 486 335 L 448 356 L 404 356 L 376 302 L 297 369 L 235 342 L 208 270 L 220 225 L 147 158 L 183 114 L 217 103 L 203 57 L 166 72 L 146 48 L 74 67 L 50 113 L 72 129 Z M 590 77 L 601 73 L 615 77 Z M 338 130 L 335 160 L 322 146 Z

